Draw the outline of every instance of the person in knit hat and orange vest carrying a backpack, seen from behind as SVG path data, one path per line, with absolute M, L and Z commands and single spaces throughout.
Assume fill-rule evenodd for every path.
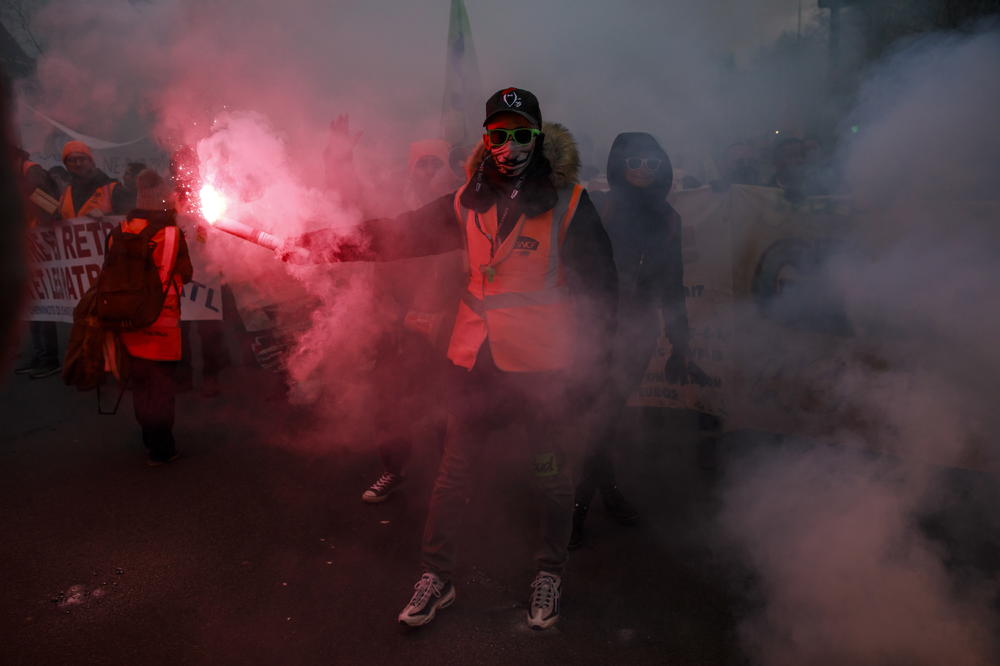
M 136 177 L 136 207 L 121 223 L 121 232 L 138 234 L 152 225 L 153 262 L 160 272 L 166 298 L 159 317 L 150 326 L 122 331 L 128 352 L 129 382 L 135 419 L 142 428 L 142 442 L 151 467 L 177 459 L 174 443 L 174 372 L 181 358 L 181 287 L 194 274 L 184 234 L 177 227 L 172 192 L 158 173 L 146 169 Z M 114 243 L 109 236 L 109 248 Z M 107 256 L 107 255 L 105 255 Z

